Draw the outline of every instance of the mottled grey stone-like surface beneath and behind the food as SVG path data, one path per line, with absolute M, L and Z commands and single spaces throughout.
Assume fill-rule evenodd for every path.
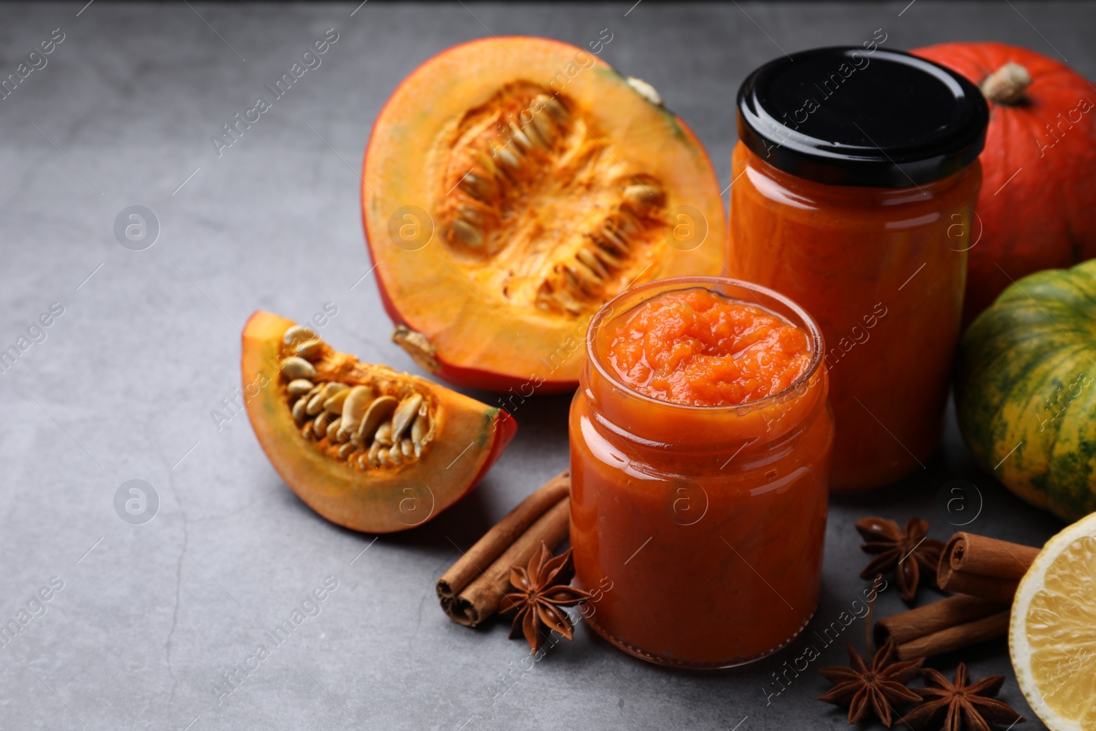
M 239 386 L 238 329 L 255 309 L 304 320 L 333 301 L 339 315 L 321 331 L 330 343 L 419 372 L 388 340 L 372 275 L 362 278 L 357 171 L 388 94 L 452 44 L 490 32 L 585 46 L 609 28 L 602 57 L 661 91 L 724 185 L 738 83 L 780 49 L 859 44 L 882 27 L 886 47 L 1000 39 L 1096 77 L 1092 4 L 740 4 L 369 2 L 353 15 L 353 3 L 0 5 L 0 76 L 54 28 L 66 34 L 0 101 L 0 345 L 50 302 L 65 308 L 0 375 L 0 620 L 52 578 L 65 582 L 0 649 L 0 727 L 844 728 L 842 711 L 813 699 L 829 687 L 815 669 L 845 662 L 840 643 L 766 703 L 770 673 L 811 630 L 752 666 L 690 673 L 636 661 L 580 627 L 522 671 L 527 649 L 504 624 L 473 631 L 442 615 L 434 580 L 455 545 L 566 466 L 567 397 L 522 404 L 516 439 L 470 496 L 375 544 L 297 500 L 246 416 L 221 431 L 210 418 Z M 322 66 L 218 158 L 210 136 L 329 27 L 339 41 Z M 130 205 L 160 221 L 146 251 L 114 238 Z M 979 472 L 948 420 L 926 469 L 833 499 L 815 626 L 865 587 L 854 521 L 917 514 L 947 538 L 936 495 L 949 480 L 980 489 L 980 533 L 1038 544 L 1060 527 Z M 114 512 L 132 479 L 160 499 L 145 525 Z M 329 575 L 339 585 L 321 614 L 218 705 L 213 684 Z M 877 616 L 900 608 L 888 591 Z M 863 623 L 846 637 L 863 647 Z M 1004 641 L 962 655 L 977 676 L 1009 670 Z M 956 661 L 935 664 L 950 675 Z M 493 698 L 512 671 L 520 679 Z M 1032 718 L 1012 677 L 1003 697 Z

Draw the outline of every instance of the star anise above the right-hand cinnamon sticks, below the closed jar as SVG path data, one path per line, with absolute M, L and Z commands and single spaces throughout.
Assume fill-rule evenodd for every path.
M 928 523 L 920 517 L 911 517 L 905 530 L 894 521 L 881 517 L 864 517 L 856 522 L 866 544 L 860 548 L 867 553 L 879 556 L 864 568 L 860 579 L 872 579 L 877 574 L 894 571 L 899 595 L 912 602 L 917 593 L 922 570 L 928 572 L 928 581 L 936 586 L 936 569 L 940 563 L 944 544 L 926 538 Z

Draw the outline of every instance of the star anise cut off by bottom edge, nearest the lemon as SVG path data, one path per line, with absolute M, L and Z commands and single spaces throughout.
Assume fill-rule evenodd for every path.
M 933 728 L 940 731 L 990 731 L 991 723 L 1018 723 L 1023 716 L 993 696 L 1001 690 L 1004 675 L 983 677 L 967 685 L 967 665 L 959 663 L 955 683 L 931 667 L 921 671 L 928 684 L 916 693 L 924 704 L 906 715 L 905 720 L 916 729 Z M 944 726 L 940 726 L 940 721 Z M 1012 728 L 1012 727 L 1009 727 Z

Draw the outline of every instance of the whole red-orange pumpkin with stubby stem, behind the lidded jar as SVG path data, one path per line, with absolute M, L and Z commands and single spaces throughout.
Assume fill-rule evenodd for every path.
M 966 327 L 1013 281 L 1096 256 L 1096 90 L 1069 66 L 1003 43 L 912 53 L 962 73 L 990 103 Z

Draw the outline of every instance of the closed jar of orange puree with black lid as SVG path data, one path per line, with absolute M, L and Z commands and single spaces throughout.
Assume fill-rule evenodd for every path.
M 898 480 L 944 426 L 985 100 L 909 54 L 819 48 L 754 71 L 738 115 L 727 269 L 822 327 L 833 489 Z

